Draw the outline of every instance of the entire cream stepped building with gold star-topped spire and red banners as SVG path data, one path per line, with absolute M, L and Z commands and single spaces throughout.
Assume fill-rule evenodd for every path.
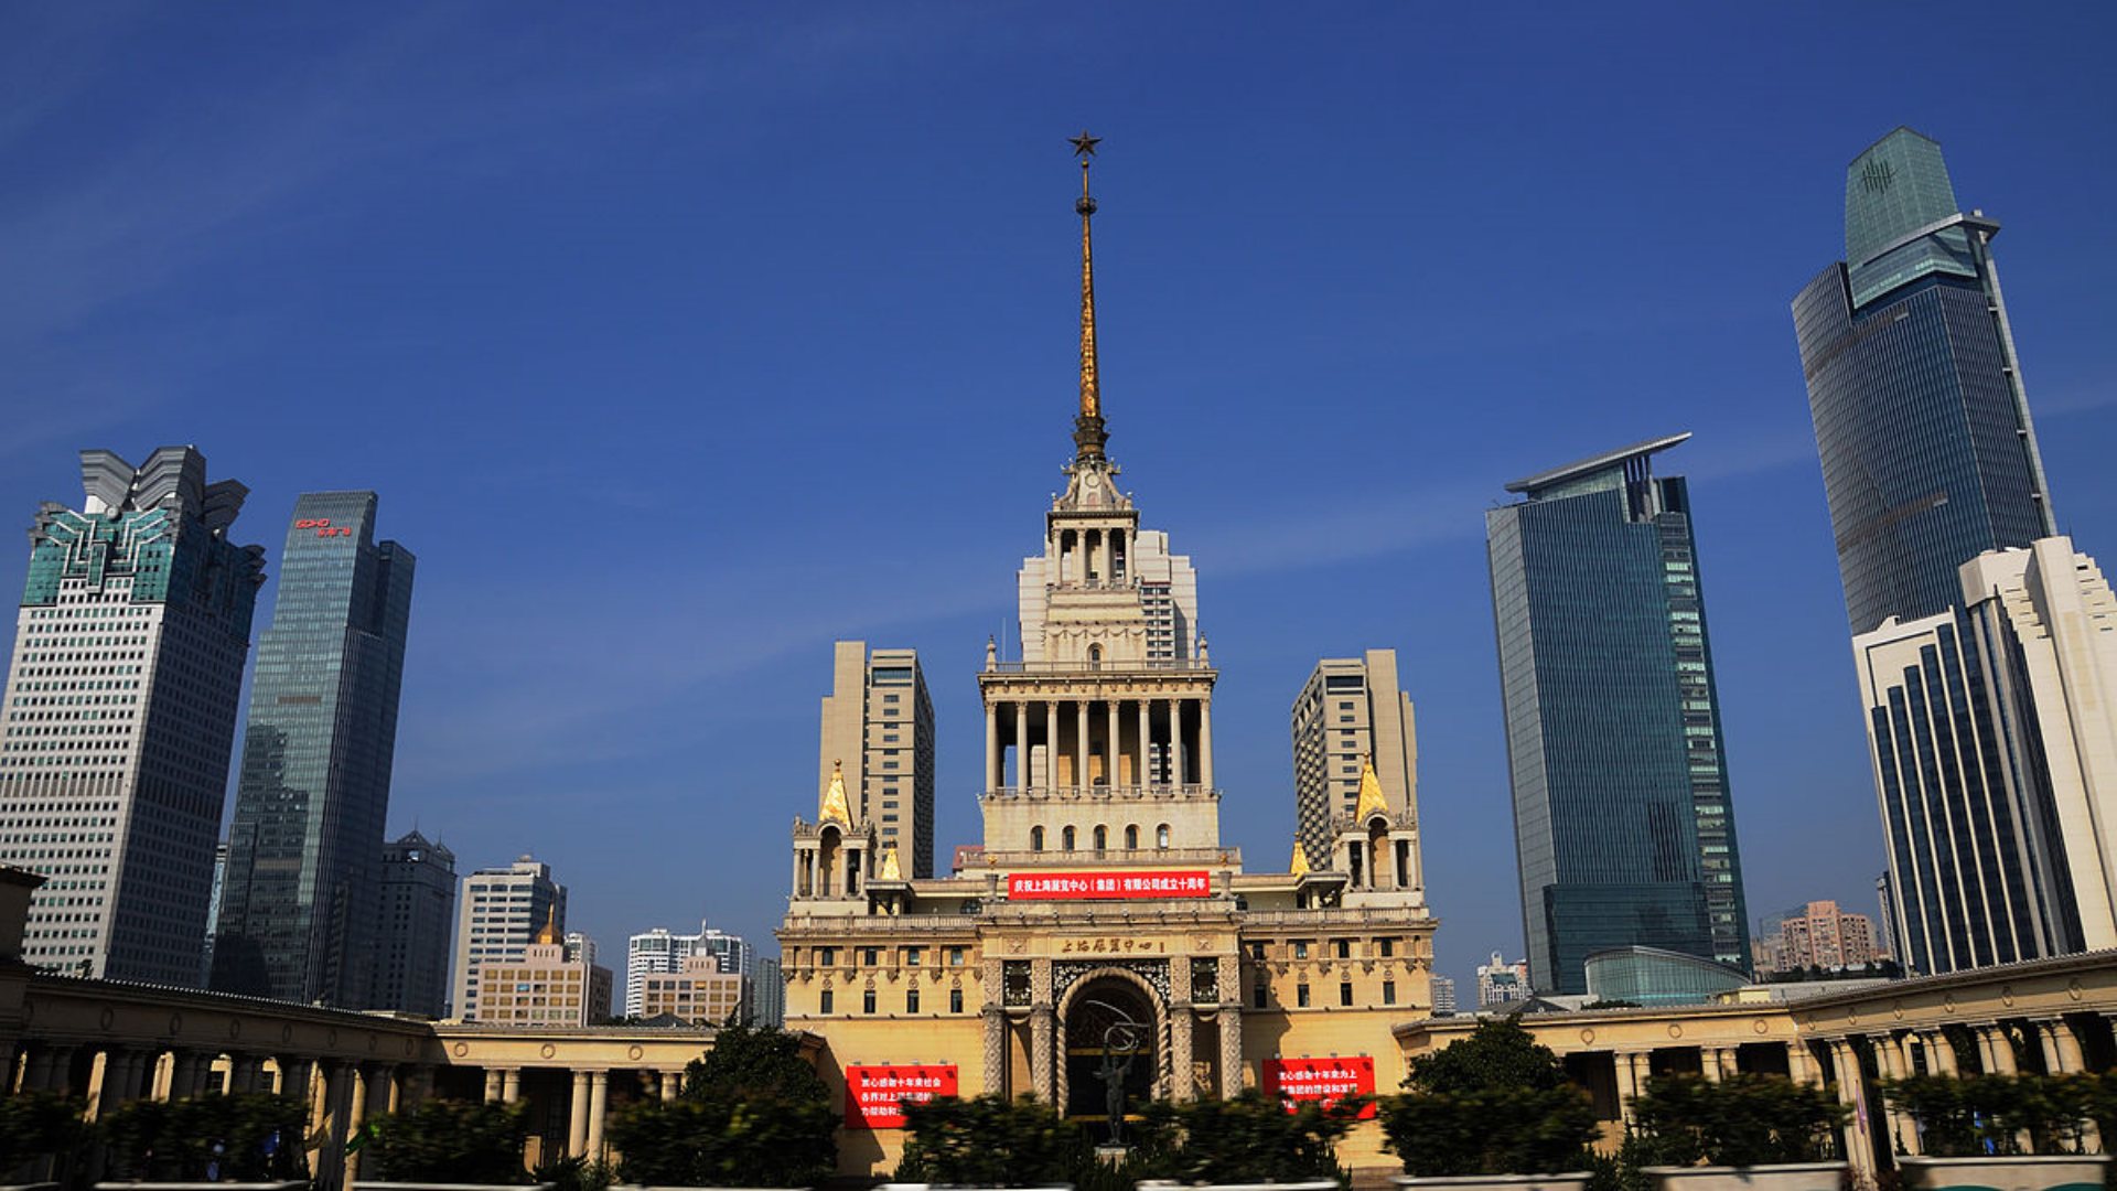
M 921 877 L 840 765 L 792 831 L 785 1026 L 824 1038 L 849 1174 L 893 1168 L 906 1096 L 1109 1121 L 1243 1087 L 1389 1089 L 1391 1026 L 1431 1013 L 1418 816 L 1372 765 L 1327 856 L 1255 873 L 1222 839 L 1196 576 L 1105 454 L 1086 161 L 1078 212 L 1075 454 L 1018 574 L 1020 661 L 989 642 L 978 672 L 982 850 Z M 1380 1153 L 1374 1123 L 1349 1146 Z

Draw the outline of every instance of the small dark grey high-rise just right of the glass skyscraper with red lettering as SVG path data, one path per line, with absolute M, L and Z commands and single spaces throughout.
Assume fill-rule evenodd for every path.
M 368 1009 L 447 1017 L 455 852 L 417 831 L 383 843 L 381 903 Z

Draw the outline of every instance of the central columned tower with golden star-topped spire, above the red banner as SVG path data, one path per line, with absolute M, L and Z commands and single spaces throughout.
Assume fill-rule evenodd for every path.
M 1139 528 L 1105 445 L 1094 343 L 1094 197 L 1080 155 L 1080 409 L 1044 553 L 1023 559 L 1020 661 L 987 648 L 984 848 L 1025 863 L 1171 860 L 1219 852 L 1213 668 L 1198 579 Z M 1042 856 L 1039 856 L 1042 854 Z

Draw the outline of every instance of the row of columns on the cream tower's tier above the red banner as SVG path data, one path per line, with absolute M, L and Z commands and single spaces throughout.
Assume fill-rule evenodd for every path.
M 1008 786 L 1213 788 L 1213 701 L 1205 695 L 989 701 L 984 790 Z

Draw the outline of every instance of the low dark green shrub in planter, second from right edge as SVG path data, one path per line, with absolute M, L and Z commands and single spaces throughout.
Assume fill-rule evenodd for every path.
M 1664 1163 L 1770 1166 L 1833 1157 L 1848 1108 L 1823 1087 L 1774 1074 L 1730 1074 L 1717 1083 L 1664 1074 L 1632 1100 L 1632 1117 Z

